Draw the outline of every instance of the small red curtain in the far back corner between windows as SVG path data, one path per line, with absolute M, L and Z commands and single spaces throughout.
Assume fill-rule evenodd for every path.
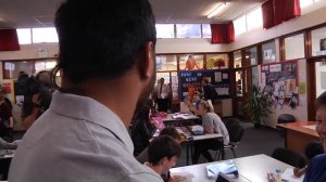
M 234 23 L 211 24 L 212 43 L 230 43 L 235 41 Z

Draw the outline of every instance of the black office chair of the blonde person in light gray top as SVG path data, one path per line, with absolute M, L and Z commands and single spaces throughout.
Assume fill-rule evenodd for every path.
M 229 134 L 229 144 L 224 145 L 223 148 L 220 148 L 218 151 L 216 151 L 216 155 L 215 158 L 225 159 L 225 151 L 230 150 L 234 154 L 234 158 L 237 158 L 236 155 L 236 148 L 238 147 L 238 145 L 240 144 L 240 141 L 243 136 L 244 133 L 244 128 L 239 123 L 239 122 L 235 122 L 233 125 L 227 125 L 226 126 L 228 134 Z M 217 157 L 216 157 L 217 156 Z

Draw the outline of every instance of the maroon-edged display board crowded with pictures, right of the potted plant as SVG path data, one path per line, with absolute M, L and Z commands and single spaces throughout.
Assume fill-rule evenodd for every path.
M 261 74 L 263 91 L 271 95 L 273 107 L 296 108 L 299 103 L 297 61 L 264 64 Z

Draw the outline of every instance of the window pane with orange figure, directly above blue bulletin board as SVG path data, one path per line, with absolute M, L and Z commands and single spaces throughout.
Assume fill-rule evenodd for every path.
M 202 54 L 185 54 L 179 56 L 180 70 L 196 70 L 203 69 L 203 55 Z

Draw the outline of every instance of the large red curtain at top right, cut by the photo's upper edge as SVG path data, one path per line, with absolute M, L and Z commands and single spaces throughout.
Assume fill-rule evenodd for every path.
M 263 27 L 271 28 L 301 15 L 300 0 L 268 0 L 262 4 Z

